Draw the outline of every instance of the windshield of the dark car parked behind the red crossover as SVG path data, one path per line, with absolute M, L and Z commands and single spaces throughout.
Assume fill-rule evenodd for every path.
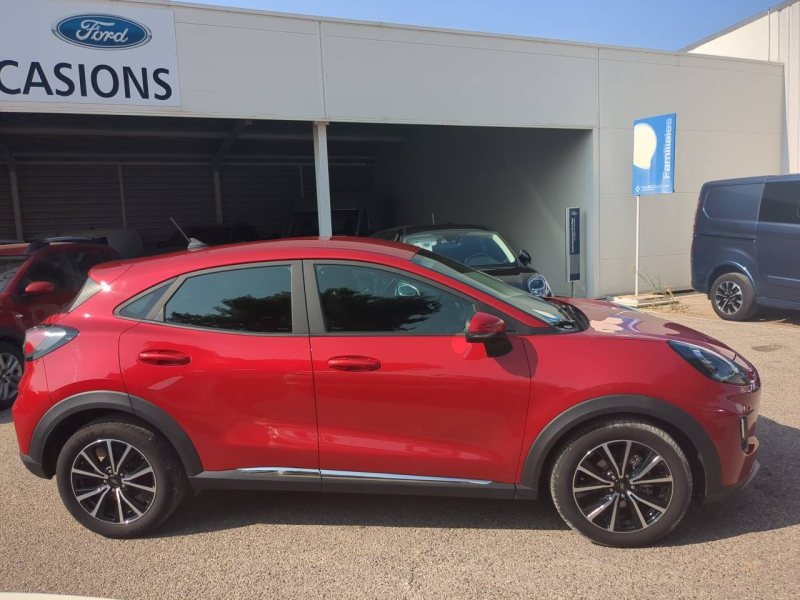
M 474 229 L 426 231 L 407 235 L 403 241 L 475 269 L 514 267 L 517 264 L 514 252 L 503 238 L 493 231 Z

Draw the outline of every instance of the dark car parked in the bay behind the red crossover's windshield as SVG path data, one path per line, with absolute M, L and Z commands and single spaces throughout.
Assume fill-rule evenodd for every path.
M 531 266 L 527 250 L 515 254 L 502 236 L 481 225 L 394 227 L 372 237 L 411 244 L 502 279 L 534 296 L 552 296 L 547 279 Z

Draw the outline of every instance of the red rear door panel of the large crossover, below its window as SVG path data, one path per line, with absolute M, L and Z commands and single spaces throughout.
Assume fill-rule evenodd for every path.
M 169 350 L 186 365 L 152 365 Z M 319 468 L 307 336 L 256 336 L 140 323 L 122 334 L 120 367 L 134 396 L 169 413 L 206 470 Z

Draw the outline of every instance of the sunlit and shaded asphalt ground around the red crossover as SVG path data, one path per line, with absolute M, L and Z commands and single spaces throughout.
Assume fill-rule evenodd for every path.
M 763 379 L 762 469 L 653 548 L 602 548 L 549 501 L 215 492 L 148 539 L 83 529 L 19 461 L 0 413 L 0 591 L 171 598 L 798 598 L 800 329 L 662 315 Z M 780 316 L 776 319 L 780 320 Z

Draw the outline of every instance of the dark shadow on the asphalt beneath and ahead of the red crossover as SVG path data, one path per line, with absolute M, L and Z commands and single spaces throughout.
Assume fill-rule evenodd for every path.
M 693 506 L 662 544 L 683 546 L 800 524 L 800 430 L 761 417 L 761 470 L 718 504 Z M 205 492 L 188 499 L 156 536 L 249 525 L 563 530 L 549 499 L 535 502 L 292 492 Z

